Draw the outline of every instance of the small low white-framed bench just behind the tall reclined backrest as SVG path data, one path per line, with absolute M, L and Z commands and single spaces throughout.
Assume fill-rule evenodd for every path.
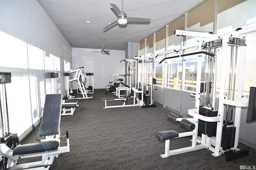
M 78 103 L 78 99 L 74 99 L 74 98 L 70 98 L 65 100 L 62 100 L 62 116 L 65 115 L 73 115 L 74 111 L 76 110 L 76 108 L 78 106 L 80 106 L 81 104 Z

